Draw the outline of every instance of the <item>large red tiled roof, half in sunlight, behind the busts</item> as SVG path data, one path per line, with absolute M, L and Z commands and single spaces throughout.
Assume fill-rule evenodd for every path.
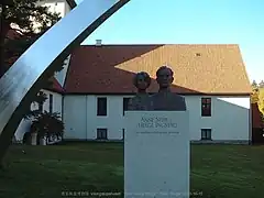
M 156 69 L 175 73 L 173 91 L 179 94 L 250 94 L 250 80 L 238 45 L 86 45 L 70 57 L 68 94 L 130 94 L 132 78 L 145 70 L 157 90 Z

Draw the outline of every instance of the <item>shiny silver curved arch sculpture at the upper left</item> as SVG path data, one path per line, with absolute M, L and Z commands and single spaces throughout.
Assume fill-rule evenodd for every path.
M 74 47 L 130 0 L 85 0 L 42 35 L 0 79 L 0 160 L 25 108 Z

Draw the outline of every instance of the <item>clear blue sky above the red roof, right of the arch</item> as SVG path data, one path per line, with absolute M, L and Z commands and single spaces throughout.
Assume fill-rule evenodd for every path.
M 84 44 L 98 38 L 103 44 L 239 44 L 250 79 L 264 80 L 264 0 L 131 0 Z

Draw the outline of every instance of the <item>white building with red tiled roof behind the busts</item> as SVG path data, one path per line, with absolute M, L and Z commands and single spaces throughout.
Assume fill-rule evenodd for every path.
M 76 48 L 43 109 L 62 113 L 67 140 L 122 140 L 123 111 L 135 89 L 132 77 L 174 70 L 172 90 L 186 98 L 193 141 L 251 141 L 250 80 L 238 45 L 89 45 Z M 36 107 L 32 107 L 36 108 Z M 15 133 L 22 140 L 30 123 Z

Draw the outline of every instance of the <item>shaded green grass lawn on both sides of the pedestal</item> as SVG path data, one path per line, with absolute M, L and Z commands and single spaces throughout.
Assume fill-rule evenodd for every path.
M 264 146 L 193 145 L 190 179 L 191 191 L 202 193 L 196 197 L 263 198 Z M 58 198 L 62 191 L 123 191 L 123 144 L 10 147 L 1 198 Z

